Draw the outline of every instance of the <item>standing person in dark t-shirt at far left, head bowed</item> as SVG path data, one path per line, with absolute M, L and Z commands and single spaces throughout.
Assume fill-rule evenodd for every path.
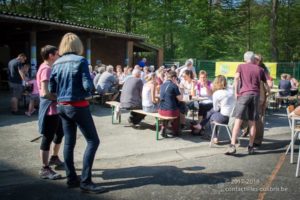
M 27 57 L 24 53 L 20 53 L 17 58 L 12 59 L 8 63 L 8 83 L 11 91 L 10 109 L 13 115 L 22 115 L 18 112 L 18 101 L 22 96 L 23 85 L 26 76 L 22 70 Z

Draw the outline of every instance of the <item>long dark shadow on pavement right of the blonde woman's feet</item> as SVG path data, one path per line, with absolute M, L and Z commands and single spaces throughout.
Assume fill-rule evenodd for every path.
M 105 180 L 103 184 L 107 186 L 110 191 L 137 188 L 146 185 L 187 186 L 219 184 L 230 182 L 232 178 L 243 176 L 243 173 L 239 171 L 201 173 L 203 169 L 204 167 L 177 168 L 174 166 L 138 166 L 120 169 L 104 169 L 99 176 Z

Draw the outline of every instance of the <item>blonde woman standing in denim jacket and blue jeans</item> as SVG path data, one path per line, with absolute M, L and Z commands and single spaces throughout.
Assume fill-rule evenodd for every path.
M 100 140 L 85 100 L 94 85 L 89 73 L 81 40 L 74 33 L 66 33 L 59 45 L 61 57 L 53 64 L 50 92 L 57 94 L 58 113 L 65 134 L 64 159 L 68 187 L 78 187 L 84 192 L 101 193 L 106 189 L 92 182 L 92 167 Z M 77 126 L 87 141 L 83 157 L 81 180 L 74 167 L 74 148 Z

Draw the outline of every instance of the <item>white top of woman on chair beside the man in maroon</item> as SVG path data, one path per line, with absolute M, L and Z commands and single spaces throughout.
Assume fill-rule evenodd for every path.
M 224 116 L 230 116 L 235 105 L 235 98 L 232 90 L 217 90 L 213 93 L 213 109 L 220 111 Z

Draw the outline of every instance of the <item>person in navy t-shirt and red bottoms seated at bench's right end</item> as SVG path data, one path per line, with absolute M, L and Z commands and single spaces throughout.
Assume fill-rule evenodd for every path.
M 179 91 L 176 72 L 170 71 L 166 75 L 167 80 L 161 85 L 160 88 L 160 104 L 158 113 L 162 116 L 177 117 L 175 120 L 173 120 L 171 133 L 172 135 L 176 136 L 179 134 L 179 102 L 182 101 L 182 94 Z M 163 137 L 168 137 L 166 121 L 163 121 L 161 133 Z

